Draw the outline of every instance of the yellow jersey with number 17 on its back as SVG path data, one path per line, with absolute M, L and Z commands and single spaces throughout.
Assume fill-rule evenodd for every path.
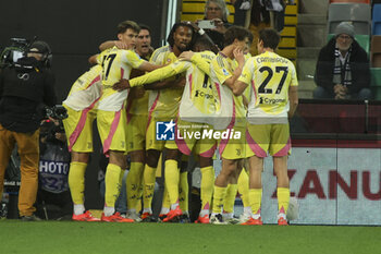
M 138 69 L 145 60 L 133 50 L 123 50 L 113 47 L 101 52 L 97 58 L 102 65 L 102 96 L 98 109 L 105 111 L 119 111 L 127 98 L 128 89 L 118 92 L 113 84 L 122 78 L 130 78 L 132 69 Z

